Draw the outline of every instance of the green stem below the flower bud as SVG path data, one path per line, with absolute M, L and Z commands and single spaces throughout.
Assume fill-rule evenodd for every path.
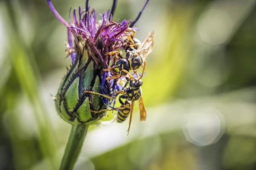
M 64 155 L 61 160 L 60 170 L 73 170 L 78 156 L 81 152 L 89 125 L 72 125 L 70 136 Z

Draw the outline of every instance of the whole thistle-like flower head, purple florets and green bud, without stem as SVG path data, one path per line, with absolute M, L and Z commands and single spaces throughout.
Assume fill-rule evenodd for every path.
M 69 22 L 64 20 L 47 0 L 52 12 L 67 27 L 67 56 L 71 56 L 72 65 L 62 79 L 61 86 L 56 96 L 56 108 L 62 118 L 68 122 L 85 123 L 102 117 L 104 113 L 94 113 L 108 106 L 108 99 L 102 99 L 85 91 L 91 90 L 99 94 L 111 95 L 114 91 L 122 90 L 122 86 L 115 80 L 106 81 L 107 72 L 103 69 L 109 68 L 111 51 L 118 51 L 128 35 L 128 28 L 134 26 L 137 18 L 130 20 L 113 20 L 116 8 L 113 0 L 111 10 L 101 14 L 101 20 L 96 20 L 96 10 L 90 12 L 88 0 L 85 9 L 79 7 L 72 12 L 70 8 Z

